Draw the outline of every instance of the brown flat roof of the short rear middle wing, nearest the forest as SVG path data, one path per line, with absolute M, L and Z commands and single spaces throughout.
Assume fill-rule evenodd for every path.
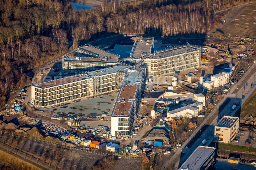
M 149 42 L 147 42 L 147 40 Z M 154 43 L 153 39 L 137 39 L 135 42 L 134 49 L 132 49 L 131 54 L 133 58 L 140 58 L 143 52 L 146 56 L 149 55 L 151 44 Z

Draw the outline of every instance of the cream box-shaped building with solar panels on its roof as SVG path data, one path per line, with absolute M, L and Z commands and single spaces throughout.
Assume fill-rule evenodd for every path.
M 239 131 L 239 117 L 223 116 L 214 127 L 214 141 L 230 143 Z

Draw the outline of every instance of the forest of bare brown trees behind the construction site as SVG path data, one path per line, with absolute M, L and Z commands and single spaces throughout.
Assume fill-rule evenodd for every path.
M 76 46 L 112 33 L 202 35 L 220 23 L 211 13 L 244 1 L 108 0 L 86 11 L 69 2 L 0 2 L 0 106 L 30 83 L 28 71 L 66 53 L 68 41 Z

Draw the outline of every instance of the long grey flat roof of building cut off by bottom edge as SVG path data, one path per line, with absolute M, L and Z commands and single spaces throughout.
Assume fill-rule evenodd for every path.
M 200 169 L 215 149 L 213 147 L 198 146 L 180 168 L 188 168 L 189 170 Z

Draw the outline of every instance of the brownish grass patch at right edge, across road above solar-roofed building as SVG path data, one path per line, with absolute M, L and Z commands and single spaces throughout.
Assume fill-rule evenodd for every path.
M 249 119 L 248 114 L 253 114 L 253 116 L 256 116 L 255 104 L 256 104 L 256 91 L 254 91 L 252 95 L 250 95 L 250 97 L 247 98 L 247 100 L 241 106 L 241 113 L 240 113 L 241 120 Z

